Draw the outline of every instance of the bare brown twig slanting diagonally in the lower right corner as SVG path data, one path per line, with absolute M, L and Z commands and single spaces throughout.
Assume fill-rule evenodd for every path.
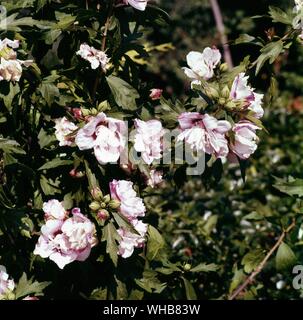
M 256 270 L 244 281 L 243 284 L 241 284 L 228 298 L 228 300 L 235 299 L 243 290 L 246 289 L 246 287 L 251 284 L 254 280 L 254 278 L 262 271 L 264 268 L 266 262 L 269 260 L 269 258 L 272 256 L 272 254 L 276 251 L 276 249 L 280 246 L 286 235 L 295 227 L 296 222 L 293 220 L 293 222 L 288 226 L 287 229 L 283 230 L 281 236 L 275 243 L 275 245 L 270 249 L 266 257 L 262 260 L 262 262 L 258 265 Z

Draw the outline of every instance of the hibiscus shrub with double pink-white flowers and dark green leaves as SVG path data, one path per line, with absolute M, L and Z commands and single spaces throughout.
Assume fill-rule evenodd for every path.
M 213 253 L 193 266 L 172 255 L 161 228 L 190 208 L 169 195 L 197 176 L 215 187 L 225 163 L 245 179 L 275 85 L 265 97 L 249 76 L 300 41 L 302 2 L 270 9 L 284 34 L 236 41 L 260 47 L 255 61 L 230 68 L 211 44 L 189 52 L 182 101 L 144 79 L 153 52 L 167 47 L 147 43 L 169 23 L 152 1 L 1 5 L 0 299 L 197 298 L 195 276 L 224 266 Z M 262 255 L 251 256 L 247 273 Z

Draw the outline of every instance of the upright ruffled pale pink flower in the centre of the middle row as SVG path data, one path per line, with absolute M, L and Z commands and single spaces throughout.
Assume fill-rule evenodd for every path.
M 135 145 L 137 152 L 141 152 L 145 163 L 151 164 L 155 159 L 162 157 L 162 138 L 164 130 L 158 120 L 142 121 L 135 119 Z

